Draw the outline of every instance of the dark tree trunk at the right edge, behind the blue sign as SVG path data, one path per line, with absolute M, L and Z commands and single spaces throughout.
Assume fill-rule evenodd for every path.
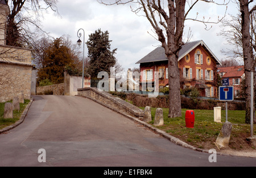
M 250 36 L 250 12 L 248 0 L 240 0 L 240 11 L 242 18 L 242 45 L 243 61 L 245 63 L 245 123 L 250 124 L 250 106 L 251 106 L 251 71 L 254 71 L 253 48 L 251 46 Z M 254 98 L 254 92 L 253 92 Z M 254 109 L 255 110 L 255 109 Z M 254 114 L 255 123 L 255 114 Z

